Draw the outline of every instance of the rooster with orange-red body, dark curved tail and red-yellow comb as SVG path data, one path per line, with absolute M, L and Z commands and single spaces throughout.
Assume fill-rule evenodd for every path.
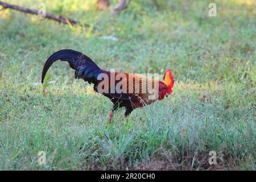
M 164 72 L 163 82 L 138 74 L 104 71 L 88 56 L 71 49 L 57 51 L 47 59 L 42 72 L 42 84 L 49 67 L 57 60 L 68 61 L 69 66 L 75 69 L 75 78 L 82 78 L 89 84 L 93 84 L 94 91 L 103 94 L 113 102 L 109 123 L 112 122 L 114 111 L 120 107 L 126 108 L 125 117 L 127 118 L 137 107 L 163 100 L 165 96 L 172 93 L 174 86 L 171 69 Z

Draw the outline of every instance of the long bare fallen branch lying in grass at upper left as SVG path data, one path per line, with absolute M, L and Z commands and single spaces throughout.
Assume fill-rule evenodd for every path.
M 27 8 L 27 7 L 22 7 L 22 6 L 17 6 L 17 5 L 11 5 L 11 4 L 9 4 L 9 3 L 5 3 L 5 2 L 2 2 L 2 1 L 0 1 L 0 5 L 3 6 L 3 9 L 10 8 L 10 9 L 22 11 L 22 12 L 24 12 L 24 13 L 30 13 L 30 14 L 34 14 L 34 15 L 39 15 L 39 14 L 38 14 L 38 10 L 29 9 L 29 8 Z M 73 19 L 64 18 L 63 16 L 55 15 L 55 14 L 51 14 L 51 13 L 46 13 L 45 16 L 42 16 L 42 17 L 48 18 L 48 19 L 52 19 L 52 20 L 55 20 L 55 21 L 57 21 L 57 22 L 64 23 L 64 24 L 72 24 L 72 25 L 74 25 L 74 24 L 79 24 L 80 26 L 89 27 L 89 24 L 84 24 L 84 25 L 82 25 L 81 23 L 76 22 L 76 21 L 73 20 Z

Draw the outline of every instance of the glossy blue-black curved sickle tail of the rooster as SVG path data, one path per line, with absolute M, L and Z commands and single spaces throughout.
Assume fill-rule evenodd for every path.
M 88 81 L 89 84 L 92 82 L 95 84 L 98 74 L 102 72 L 97 64 L 83 53 L 71 49 L 63 49 L 53 53 L 53 55 L 47 59 L 42 72 L 42 83 L 44 82 L 44 77 L 49 67 L 57 60 L 68 61 L 70 67 L 76 71 L 75 78 L 83 78 L 85 81 Z

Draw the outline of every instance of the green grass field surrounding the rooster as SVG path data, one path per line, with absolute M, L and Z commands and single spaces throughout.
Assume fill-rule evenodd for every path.
M 255 170 L 255 6 L 214 2 L 212 18 L 208 1 L 134 0 L 115 17 L 90 1 L 46 2 L 47 11 L 90 28 L 1 11 L 0 169 Z M 119 41 L 100 39 L 108 35 Z M 67 63 L 49 69 L 55 82 L 43 96 L 36 84 L 43 64 L 63 48 L 106 70 L 163 75 L 172 68 L 174 92 L 134 110 L 127 123 L 117 111 L 109 125 L 112 103 L 75 80 Z M 39 151 L 46 165 L 38 164 Z M 209 165 L 209 151 L 217 165 Z

